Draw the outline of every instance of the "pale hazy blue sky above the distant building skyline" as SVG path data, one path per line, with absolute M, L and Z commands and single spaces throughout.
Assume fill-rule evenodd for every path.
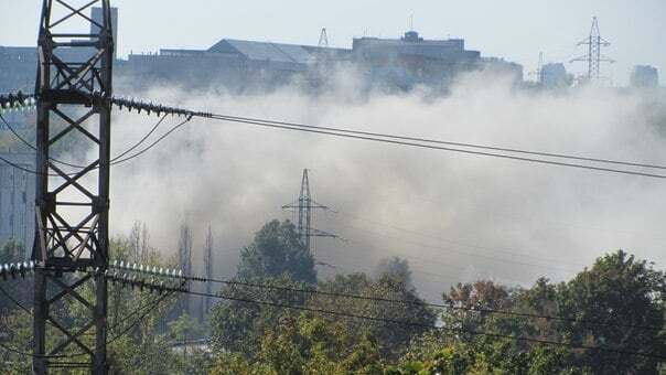
M 0 0 L 0 45 L 33 45 L 41 1 Z M 80 1 L 84 3 L 84 1 Z M 332 46 L 351 47 L 354 36 L 398 38 L 410 26 L 426 39 L 463 38 L 471 50 L 520 63 L 534 76 L 539 52 L 545 62 L 565 62 L 582 74 L 576 44 L 597 15 L 601 35 L 611 42 L 603 53 L 616 63 L 602 66 L 615 85 L 629 82 L 637 64 L 666 72 L 663 45 L 664 0 L 474 0 L 379 1 L 287 0 L 116 0 L 119 8 L 119 56 L 162 47 L 207 49 L 223 38 L 316 44 L 326 28 Z M 663 79 L 662 79 L 663 81 Z

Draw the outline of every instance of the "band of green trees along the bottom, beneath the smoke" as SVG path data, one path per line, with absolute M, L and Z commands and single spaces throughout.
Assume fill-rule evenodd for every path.
M 181 247 L 191 246 L 185 232 Z M 149 238 L 148 229 L 136 225 L 127 238 L 114 239 L 112 258 L 164 267 L 182 261 L 162 258 Z M 22 249 L 10 243 L 0 259 L 11 261 L 15 254 Z M 240 250 L 232 282 L 214 287 L 221 298 L 202 321 L 183 311 L 179 294 L 110 283 L 112 373 L 666 372 L 666 275 L 624 250 L 599 257 L 566 282 L 541 278 L 530 288 L 461 282 L 442 290 L 437 307 L 419 297 L 410 275 L 409 262 L 394 257 L 373 275 L 321 279 L 293 224 L 271 221 Z M 0 282 L 10 292 L 22 288 L 20 280 Z M 147 311 L 140 308 L 162 297 L 135 319 L 137 308 Z M 31 308 L 28 292 L 19 300 Z M 0 301 L 0 367 L 28 373 L 30 361 L 20 352 L 30 351 L 32 318 L 8 299 Z M 75 306 L 65 303 L 58 314 L 77 319 L 83 310 Z M 75 357 L 76 347 L 71 351 Z

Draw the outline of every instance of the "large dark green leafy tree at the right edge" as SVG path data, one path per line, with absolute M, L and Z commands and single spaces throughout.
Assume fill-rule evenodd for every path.
M 559 314 L 572 319 L 560 322 L 560 329 L 576 344 L 664 355 L 665 297 L 666 274 L 619 250 L 560 286 Z M 658 365 L 655 358 L 601 351 L 577 353 L 576 363 L 594 373 L 625 374 L 656 373 Z

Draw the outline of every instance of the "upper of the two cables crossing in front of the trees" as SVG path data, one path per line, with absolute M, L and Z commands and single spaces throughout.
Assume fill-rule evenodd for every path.
M 216 282 L 216 283 L 224 283 L 224 285 L 228 285 L 228 286 L 243 286 L 243 287 L 250 287 L 250 288 L 279 290 L 279 291 L 303 292 L 303 293 L 311 293 L 311 294 L 321 294 L 321 296 L 339 297 L 339 298 L 351 298 L 351 299 L 356 299 L 356 300 L 375 301 L 375 302 L 389 302 L 389 303 L 401 303 L 401 304 L 411 304 L 411 306 L 427 306 L 427 307 L 431 307 L 431 308 L 462 310 L 462 311 L 469 311 L 469 312 L 481 312 L 481 313 L 490 313 L 490 314 L 502 314 L 502 315 L 513 315 L 513 317 L 523 317 L 523 318 L 557 320 L 557 321 L 566 321 L 566 322 L 571 322 L 571 323 L 584 323 L 584 324 L 593 325 L 593 326 L 622 326 L 622 328 L 643 329 L 643 330 L 657 330 L 657 331 L 662 330 L 660 326 L 640 325 L 640 324 L 622 324 L 622 323 L 599 323 L 599 322 L 590 321 L 590 320 L 565 318 L 565 317 L 557 317 L 557 315 L 546 315 L 546 314 L 536 314 L 536 313 L 527 313 L 527 312 L 495 310 L 495 309 L 487 309 L 487 308 L 465 308 L 465 307 L 461 307 L 461 306 L 431 303 L 431 302 L 418 301 L 418 300 L 400 300 L 400 299 L 390 299 L 390 298 L 383 298 L 383 297 L 369 297 L 369 296 L 361 296 L 361 294 L 332 292 L 332 291 L 324 291 L 324 290 L 314 289 L 314 288 L 280 287 L 280 286 L 271 286 L 271 285 L 267 285 L 267 283 L 214 279 L 214 278 L 204 278 L 204 277 L 197 277 L 197 276 L 183 276 L 183 278 L 187 279 L 187 280 L 192 280 L 192 281 L 198 281 L 198 282 Z

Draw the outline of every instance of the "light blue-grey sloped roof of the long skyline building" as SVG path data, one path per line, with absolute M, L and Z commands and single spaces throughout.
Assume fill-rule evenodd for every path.
M 308 64 L 312 55 L 302 45 L 223 39 L 208 52 L 238 54 L 248 60 Z

